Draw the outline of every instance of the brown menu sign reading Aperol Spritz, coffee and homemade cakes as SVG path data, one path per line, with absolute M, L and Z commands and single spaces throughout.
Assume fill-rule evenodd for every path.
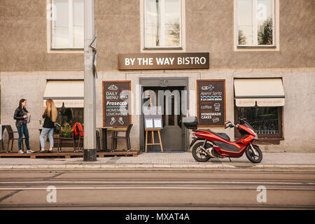
M 197 80 L 199 127 L 225 127 L 225 80 Z

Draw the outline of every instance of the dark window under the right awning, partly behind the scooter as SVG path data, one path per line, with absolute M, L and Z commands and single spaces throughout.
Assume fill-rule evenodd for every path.
M 235 108 L 235 123 L 245 118 L 258 134 L 258 140 L 282 139 L 282 106 Z M 239 132 L 235 131 L 235 137 L 241 137 Z

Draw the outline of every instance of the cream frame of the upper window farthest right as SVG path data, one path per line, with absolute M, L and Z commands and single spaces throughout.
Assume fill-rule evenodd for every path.
M 258 0 L 252 0 L 253 9 L 257 6 Z M 238 20 L 239 20 L 239 13 L 237 8 L 238 0 L 234 0 L 234 51 L 279 51 L 280 50 L 280 43 L 279 43 L 279 0 L 272 0 L 272 45 L 239 45 L 239 28 L 238 28 Z M 255 10 L 254 10 L 255 11 Z M 254 20 L 253 13 L 253 21 L 255 23 L 255 43 L 258 43 L 258 25 L 257 20 Z M 257 41 L 257 42 L 256 42 Z

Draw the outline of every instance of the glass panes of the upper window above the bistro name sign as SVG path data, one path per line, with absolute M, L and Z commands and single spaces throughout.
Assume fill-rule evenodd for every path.
M 182 0 L 144 0 L 144 48 L 181 48 Z

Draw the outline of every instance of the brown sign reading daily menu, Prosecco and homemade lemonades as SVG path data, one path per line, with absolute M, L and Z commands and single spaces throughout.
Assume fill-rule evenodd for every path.
M 130 81 L 103 81 L 103 127 L 128 127 Z

